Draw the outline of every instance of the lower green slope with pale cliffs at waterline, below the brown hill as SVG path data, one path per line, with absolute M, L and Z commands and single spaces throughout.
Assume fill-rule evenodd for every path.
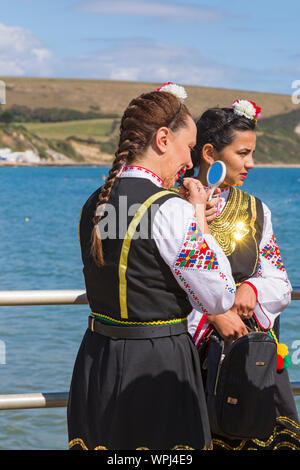
M 2 124 L 0 147 L 35 148 L 43 159 L 50 148 L 74 162 L 109 163 L 118 125 L 118 119 Z M 300 164 L 300 109 L 259 121 L 255 159 L 258 164 Z

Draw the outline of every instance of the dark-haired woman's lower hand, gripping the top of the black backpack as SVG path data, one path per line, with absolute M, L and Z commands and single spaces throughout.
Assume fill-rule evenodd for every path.
M 226 341 L 234 341 L 248 333 L 245 323 L 233 310 L 228 310 L 220 315 L 209 315 L 207 321 Z

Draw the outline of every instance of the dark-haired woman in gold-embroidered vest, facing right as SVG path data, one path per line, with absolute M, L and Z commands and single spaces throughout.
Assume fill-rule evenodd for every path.
M 194 167 L 199 167 L 198 181 L 207 185 L 207 171 L 214 161 L 221 160 L 226 165 L 217 217 L 209 229 L 228 257 L 237 287 L 228 312 L 208 316 L 209 308 L 202 313 L 193 310 L 188 322 L 197 347 L 204 344 L 212 330 L 227 341 L 243 336 L 244 322 L 250 318 L 278 343 L 278 316 L 291 300 L 292 288 L 274 236 L 271 212 L 258 198 L 238 189 L 254 168 L 255 127 L 260 111 L 253 102 L 237 100 L 232 108 L 208 109 L 197 122 L 192 159 Z M 266 442 L 213 436 L 214 449 L 276 449 L 284 445 L 300 449 L 300 427 L 286 369 L 290 359 L 285 345 L 279 344 L 277 353 L 274 433 Z

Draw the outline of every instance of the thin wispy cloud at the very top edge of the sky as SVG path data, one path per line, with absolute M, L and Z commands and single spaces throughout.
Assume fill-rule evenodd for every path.
M 169 21 L 215 21 L 223 17 L 219 8 L 210 8 L 192 3 L 166 2 L 165 0 L 90 0 L 81 2 L 78 8 L 88 13 L 112 15 L 137 15 L 164 18 Z

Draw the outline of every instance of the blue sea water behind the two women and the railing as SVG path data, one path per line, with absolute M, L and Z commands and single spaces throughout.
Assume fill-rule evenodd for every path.
M 85 289 L 80 210 L 106 167 L 0 168 L 0 290 Z M 284 264 L 300 286 L 300 168 L 256 168 L 244 190 L 272 211 Z M 0 307 L 0 394 L 68 392 L 88 305 Z M 300 301 L 281 317 L 300 381 Z M 296 399 L 298 412 L 300 400 Z M 66 408 L 0 410 L 0 449 L 67 449 Z

